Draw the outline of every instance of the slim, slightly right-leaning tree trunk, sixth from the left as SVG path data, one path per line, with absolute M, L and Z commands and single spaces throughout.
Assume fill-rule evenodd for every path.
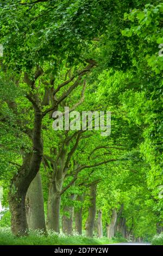
M 86 220 L 86 236 L 93 236 L 93 227 L 96 217 L 96 188 L 97 184 L 93 184 L 90 187 L 90 207 L 89 215 Z

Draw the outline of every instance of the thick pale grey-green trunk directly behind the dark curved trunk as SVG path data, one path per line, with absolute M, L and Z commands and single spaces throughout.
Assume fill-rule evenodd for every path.
M 46 233 L 43 191 L 40 172 L 31 182 L 26 194 L 26 215 L 28 228 L 40 229 Z

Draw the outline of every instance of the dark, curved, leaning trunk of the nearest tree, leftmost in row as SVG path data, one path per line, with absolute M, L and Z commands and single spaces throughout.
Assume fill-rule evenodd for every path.
M 11 180 L 9 208 L 11 212 L 11 230 L 14 235 L 25 235 L 28 230 L 26 218 L 26 193 L 32 180 L 39 172 L 43 145 L 41 139 L 42 113 L 35 109 L 33 130 L 33 152 L 23 157 L 23 164 Z

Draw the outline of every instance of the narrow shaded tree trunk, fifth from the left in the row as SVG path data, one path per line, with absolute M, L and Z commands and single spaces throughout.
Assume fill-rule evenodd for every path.
M 82 202 L 83 201 L 83 195 L 78 196 L 77 200 Z M 82 235 L 82 221 L 83 221 L 82 212 L 83 212 L 83 207 L 82 206 L 77 211 L 74 211 L 75 229 L 76 229 L 76 232 L 79 235 Z

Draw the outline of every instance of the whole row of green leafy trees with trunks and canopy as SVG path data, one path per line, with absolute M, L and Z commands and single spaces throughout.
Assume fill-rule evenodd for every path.
M 12 233 L 62 223 L 72 234 L 73 221 L 88 236 L 161 230 L 160 1 L 15 0 L 0 14 L 0 172 Z M 111 135 L 54 131 L 65 106 L 110 111 Z

